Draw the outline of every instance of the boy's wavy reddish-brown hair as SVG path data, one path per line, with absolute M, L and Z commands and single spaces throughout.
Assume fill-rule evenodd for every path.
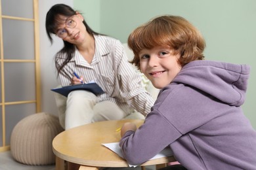
M 137 27 L 128 38 L 128 46 L 135 54 L 131 63 L 140 69 L 139 52 L 156 46 L 166 46 L 174 55 L 180 54 L 181 66 L 202 60 L 205 41 L 198 29 L 181 16 L 159 16 Z

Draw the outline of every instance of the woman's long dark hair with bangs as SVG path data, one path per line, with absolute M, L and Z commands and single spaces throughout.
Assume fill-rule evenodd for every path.
M 56 33 L 56 29 L 58 27 L 58 24 L 60 24 L 60 16 L 74 16 L 76 11 L 69 7 L 68 5 L 65 4 L 56 4 L 51 7 L 51 9 L 47 12 L 46 14 L 46 20 L 45 20 L 45 28 L 47 32 L 47 36 L 49 40 L 51 41 L 51 44 L 53 44 L 53 37 L 52 35 Z M 83 24 L 86 27 L 87 32 L 89 35 L 100 35 L 100 33 L 96 33 L 87 25 L 85 20 L 83 20 Z M 59 75 L 60 71 L 62 68 L 74 57 L 74 52 L 75 52 L 75 45 L 68 42 L 68 41 L 63 41 L 64 42 L 64 47 L 58 52 L 58 54 L 66 54 L 66 58 L 64 62 L 61 65 L 58 65 L 58 62 L 56 61 L 57 58 L 55 58 L 55 66 L 57 69 L 57 75 Z M 58 55 L 56 55 L 58 56 Z M 68 75 L 66 73 L 66 75 Z

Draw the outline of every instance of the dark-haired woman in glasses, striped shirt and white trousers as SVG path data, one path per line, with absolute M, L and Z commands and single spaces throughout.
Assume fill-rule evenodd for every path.
M 96 33 L 79 12 L 64 4 L 51 7 L 45 26 L 52 43 L 53 35 L 64 42 L 55 57 L 62 86 L 95 81 L 105 92 L 71 92 L 66 102 L 65 129 L 118 120 L 134 109 L 145 116 L 150 112 L 154 101 L 142 88 L 140 76 L 127 61 L 121 42 Z

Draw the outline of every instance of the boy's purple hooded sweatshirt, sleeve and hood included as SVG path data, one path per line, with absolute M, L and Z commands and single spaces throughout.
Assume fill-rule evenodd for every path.
M 169 146 L 186 169 L 256 169 L 256 131 L 244 116 L 249 66 L 192 61 L 163 88 L 142 126 L 121 139 L 133 165 Z

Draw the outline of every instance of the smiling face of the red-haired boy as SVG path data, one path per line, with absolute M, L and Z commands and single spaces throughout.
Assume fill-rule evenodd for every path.
M 178 62 L 180 54 L 173 55 L 173 50 L 167 47 L 144 49 L 139 53 L 140 71 L 152 82 L 155 88 L 167 86 L 181 71 Z

